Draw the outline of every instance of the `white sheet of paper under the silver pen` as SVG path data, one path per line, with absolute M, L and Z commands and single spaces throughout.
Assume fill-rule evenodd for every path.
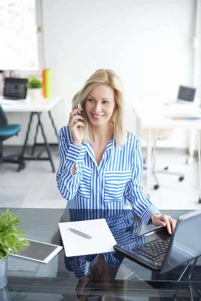
M 91 236 L 91 239 L 78 235 L 68 228 L 73 228 Z M 114 252 L 116 240 L 105 220 L 59 223 L 66 257 Z

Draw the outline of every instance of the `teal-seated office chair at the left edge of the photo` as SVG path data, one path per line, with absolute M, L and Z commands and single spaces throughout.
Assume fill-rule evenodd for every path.
M 6 112 L 0 105 L 0 164 L 3 162 L 19 164 L 19 170 L 25 168 L 25 163 L 20 160 L 21 153 L 3 156 L 3 141 L 18 135 L 21 130 L 21 124 L 8 124 Z

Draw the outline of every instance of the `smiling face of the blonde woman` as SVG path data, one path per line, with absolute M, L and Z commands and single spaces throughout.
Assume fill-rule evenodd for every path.
M 85 110 L 93 126 L 106 125 L 115 110 L 114 89 L 107 85 L 96 85 L 86 97 Z

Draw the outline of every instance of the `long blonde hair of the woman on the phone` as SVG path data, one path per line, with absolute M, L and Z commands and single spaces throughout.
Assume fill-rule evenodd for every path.
M 115 102 L 117 109 L 114 111 L 111 121 L 114 125 L 114 138 L 118 148 L 122 148 L 127 140 L 127 131 L 125 124 L 125 107 L 124 107 L 124 91 L 123 84 L 117 73 L 110 69 L 99 69 L 95 71 L 85 82 L 79 92 L 72 99 L 72 109 L 77 105 L 83 108 L 81 115 L 84 117 L 84 138 L 83 142 L 88 144 L 92 142 L 91 125 L 85 111 L 85 101 L 90 90 L 96 85 L 107 85 L 114 89 Z

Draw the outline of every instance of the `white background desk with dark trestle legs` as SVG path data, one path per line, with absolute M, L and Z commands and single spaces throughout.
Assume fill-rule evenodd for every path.
M 51 149 L 50 149 L 49 143 L 48 143 L 46 135 L 45 135 L 45 130 L 44 130 L 43 124 L 41 122 L 41 113 L 47 112 L 49 114 L 49 117 L 50 117 L 51 122 L 52 122 L 52 126 L 53 126 L 54 131 L 55 131 L 55 135 L 58 139 L 58 131 L 57 131 L 56 126 L 54 124 L 54 120 L 52 118 L 50 110 L 61 100 L 62 100 L 61 96 L 58 96 L 58 97 L 55 97 L 55 98 L 50 98 L 50 99 L 45 99 L 44 98 L 44 99 L 41 99 L 40 101 L 30 101 L 29 99 L 25 99 L 25 100 L 21 99 L 21 100 L 12 100 L 11 101 L 11 100 L 0 98 L 0 104 L 2 105 L 3 109 L 6 112 L 27 112 L 27 113 L 30 113 L 30 118 L 29 118 L 29 123 L 28 123 L 28 127 L 27 127 L 26 137 L 25 137 L 22 153 L 20 155 L 20 159 L 22 160 L 22 162 L 24 160 L 40 160 L 40 161 L 48 160 L 51 163 L 53 173 L 55 172 L 55 168 L 54 168 L 54 164 L 53 164 L 53 160 L 52 160 Z M 36 115 L 37 118 L 38 118 L 38 123 L 37 123 L 37 126 L 36 126 L 36 133 L 35 133 L 35 137 L 34 137 L 34 144 L 33 144 L 33 147 L 32 147 L 31 156 L 25 157 L 25 150 L 26 150 L 26 147 L 27 147 L 27 141 L 28 141 L 28 137 L 29 137 L 29 133 L 30 133 L 30 129 L 31 129 L 31 123 L 32 123 L 34 115 Z M 19 121 L 19 123 L 20 123 L 20 121 Z M 39 127 L 41 128 L 44 143 L 37 143 L 36 142 Z M 40 152 L 37 156 L 34 156 L 36 145 L 44 145 L 45 146 L 47 154 L 48 154 L 47 158 L 41 158 L 40 157 L 43 152 Z M 20 171 L 21 169 L 23 169 L 23 167 L 20 165 L 18 171 Z

